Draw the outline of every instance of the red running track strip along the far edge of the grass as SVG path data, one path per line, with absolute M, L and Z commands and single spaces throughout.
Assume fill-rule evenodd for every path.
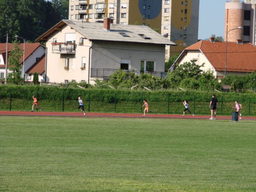
M 60 116 L 60 117 L 111 117 L 111 118 L 170 118 L 170 119 L 209 119 L 208 116 L 185 115 L 184 117 L 177 114 L 129 114 L 129 113 L 93 113 L 89 112 L 84 115 L 82 112 L 31 112 L 31 111 L 0 111 L 1 116 Z M 232 116 L 217 116 L 217 120 L 231 120 Z M 242 120 L 256 120 L 256 117 L 242 117 Z

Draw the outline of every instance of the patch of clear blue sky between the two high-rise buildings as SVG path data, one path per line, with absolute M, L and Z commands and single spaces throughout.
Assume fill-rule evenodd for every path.
M 200 0 L 198 39 L 212 34 L 224 38 L 226 0 Z

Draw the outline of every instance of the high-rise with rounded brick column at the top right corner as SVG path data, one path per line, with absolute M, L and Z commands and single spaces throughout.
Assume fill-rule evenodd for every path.
M 239 26 L 243 29 L 237 29 Z M 231 0 L 225 6 L 225 36 L 228 41 L 250 42 L 256 45 L 256 1 L 255 0 Z

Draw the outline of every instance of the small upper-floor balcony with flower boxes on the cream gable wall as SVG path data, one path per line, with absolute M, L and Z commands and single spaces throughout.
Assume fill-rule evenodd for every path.
M 52 43 L 52 53 L 56 54 L 76 54 L 75 43 Z

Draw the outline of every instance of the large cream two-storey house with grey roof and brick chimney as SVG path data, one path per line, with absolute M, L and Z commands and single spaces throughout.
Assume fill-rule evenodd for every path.
M 164 75 L 165 46 L 175 45 L 148 26 L 62 20 L 36 41 L 47 47 L 46 82 L 89 82 L 116 69 Z

